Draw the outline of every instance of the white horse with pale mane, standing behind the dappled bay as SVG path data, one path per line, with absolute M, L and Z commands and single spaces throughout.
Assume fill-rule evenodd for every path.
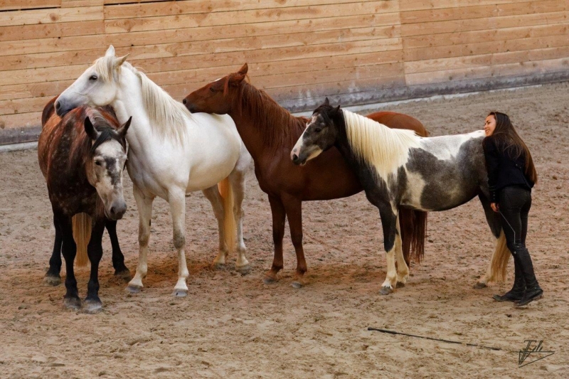
M 178 250 L 179 271 L 174 295 L 184 297 L 188 293 L 184 252 L 188 192 L 203 191 L 218 220 L 219 252 L 213 265 L 225 264 L 228 251 L 235 244 L 236 220 L 238 258 L 235 269 L 239 272 L 249 269 L 243 242 L 241 203 L 245 193 L 245 171 L 250 166 L 251 156 L 231 117 L 191 114 L 144 73 L 127 63 L 126 58 L 126 55 L 115 57 L 115 48 L 110 46 L 104 57 L 95 60 L 95 64 L 58 97 L 55 110 L 63 115 L 78 105 L 111 105 L 120 122 L 126 122 L 136 114 L 127 137 L 127 169 L 139 211 L 139 261 L 137 273 L 127 289 L 139 292 L 143 287 L 152 202 L 159 196 L 170 205 L 174 246 Z M 217 183 L 220 183 L 220 191 Z

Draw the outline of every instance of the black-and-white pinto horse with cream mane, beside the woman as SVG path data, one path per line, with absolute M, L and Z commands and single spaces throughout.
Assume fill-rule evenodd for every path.
M 294 145 L 294 164 L 306 164 L 336 146 L 358 176 L 368 201 L 379 210 L 387 277 L 381 294 L 390 294 L 399 279 L 394 252 L 401 249 L 398 208 L 447 210 L 478 196 L 494 237 L 504 240 L 498 213 L 491 210 L 482 150 L 482 130 L 444 137 L 418 137 L 389 129 L 359 114 L 331 107 L 328 99 L 314 110 Z M 497 243 L 486 277 L 504 277 L 510 252 Z

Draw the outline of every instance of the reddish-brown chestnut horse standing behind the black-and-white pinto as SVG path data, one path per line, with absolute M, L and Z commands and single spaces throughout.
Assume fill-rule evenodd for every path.
M 255 161 L 255 175 L 260 188 L 269 196 L 272 211 L 275 257 L 264 282 L 274 282 L 277 272 L 282 269 L 282 237 L 286 216 L 297 253 L 297 271 L 292 285 L 302 287 L 304 273 L 307 272 L 302 248 L 302 201 L 344 198 L 362 191 L 362 187 L 346 160 L 334 148 L 309 161 L 306 166 L 292 164 L 290 150 L 304 131 L 308 119 L 292 116 L 264 91 L 250 85 L 245 80 L 247 71 L 245 64 L 238 73 L 192 92 L 183 102 L 190 112 L 229 114 L 235 121 Z M 391 128 L 412 129 L 420 136 L 427 136 L 425 127 L 405 114 L 377 112 L 368 117 Z M 424 250 L 426 221 L 427 214 L 424 212 L 401 210 L 401 236 L 406 260 L 410 257 L 411 247 L 415 259 L 420 260 Z M 405 278 L 400 279 L 404 284 Z

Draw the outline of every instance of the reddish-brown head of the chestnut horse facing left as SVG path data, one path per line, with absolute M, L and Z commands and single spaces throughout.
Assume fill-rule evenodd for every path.
M 247 63 L 237 72 L 191 92 L 182 102 L 192 113 L 206 112 L 228 114 L 234 104 L 237 90 L 247 77 Z

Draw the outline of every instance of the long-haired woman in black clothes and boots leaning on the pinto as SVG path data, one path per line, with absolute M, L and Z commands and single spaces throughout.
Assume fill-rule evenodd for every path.
M 536 167 L 528 146 L 516 133 L 507 114 L 490 112 L 484 132 L 491 207 L 502 216 L 502 229 L 514 255 L 515 267 L 514 287 L 504 295 L 494 295 L 494 299 L 523 306 L 543 296 L 526 249 L 531 188 L 538 178 Z

